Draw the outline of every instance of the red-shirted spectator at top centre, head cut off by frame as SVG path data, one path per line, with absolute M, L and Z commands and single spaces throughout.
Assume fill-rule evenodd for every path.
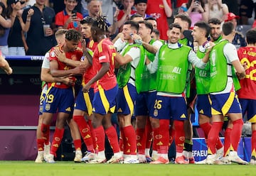
M 171 17 L 171 1 L 167 0 L 149 0 L 146 7 L 146 13 L 156 18 L 157 23 L 161 24 L 158 26 L 160 32 L 160 38 L 168 40 L 168 22 L 167 18 Z

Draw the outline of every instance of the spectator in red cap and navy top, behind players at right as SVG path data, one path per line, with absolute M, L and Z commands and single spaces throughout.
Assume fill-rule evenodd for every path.
M 239 16 L 236 16 L 234 13 L 228 13 L 225 18 L 225 22 L 231 21 L 236 29 L 238 25 L 238 18 Z M 245 37 L 242 35 L 242 33 L 235 31 L 235 38 L 233 39 L 232 44 L 235 45 L 235 48 L 237 49 L 246 46 Z

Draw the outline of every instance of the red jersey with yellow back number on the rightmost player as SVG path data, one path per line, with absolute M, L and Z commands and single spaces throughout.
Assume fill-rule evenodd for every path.
M 242 64 L 246 63 L 245 78 L 240 80 L 240 99 L 256 99 L 256 47 L 238 49 L 238 57 Z

